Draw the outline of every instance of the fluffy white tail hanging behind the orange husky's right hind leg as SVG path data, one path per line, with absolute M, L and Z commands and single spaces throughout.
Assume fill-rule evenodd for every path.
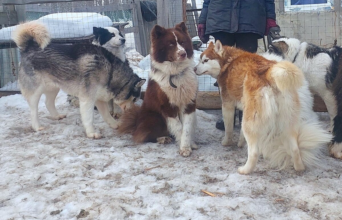
M 316 119 L 301 122 L 297 143 L 305 167 L 319 165 L 320 150 L 331 139 L 332 135 Z M 278 144 L 281 145 L 282 143 Z M 268 155 L 271 164 L 278 166 L 280 169 L 293 167 L 293 159 L 287 152 L 289 149 L 277 146 L 275 148 L 271 155 Z

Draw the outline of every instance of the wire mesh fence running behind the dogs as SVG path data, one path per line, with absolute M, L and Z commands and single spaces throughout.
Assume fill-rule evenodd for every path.
M 19 22 L 37 20 L 46 24 L 53 43 L 74 44 L 92 41 L 92 27 L 121 25 L 126 39 L 126 57 L 132 69 L 140 77 L 148 79 L 150 71 L 150 31 L 158 18 L 165 18 L 161 25 L 170 27 L 183 20 L 181 0 L 168 0 L 158 5 L 156 1 L 88 0 L 0 7 L 0 91 L 19 90 L 18 67 L 20 55 L 10 40 Z M 260 1 L 259 1 L 260 2 Z M 311 3 L 312 2 L 312 3 Z M 305 3 L 305 4 L 304 4 Z M 186 23 L 195 49 L 195 62 L 208 44 L 197 36 L 197 24 L 202 0 L 186 1 Z M 157 12 L 157 6 L 159 10 Z M 281 35 L 323 47 L 341 45 L 341 6 L 338 1 L 276 0 L 275 11 Z M 160 23 L 159 23 L 160 24 Z M 210 36 L 210 41 L 214 41 Z M 267 39 L 266 39 L 267 41 Z M 259 40 L 258 53 L 264 52 L 263 40 Z M 215 79 L 199 76 L 199 91 L 218 92 Z M 143 91 L 146 89 L 146 83 Z M 217 112 L 220 113 L 220 112 Z

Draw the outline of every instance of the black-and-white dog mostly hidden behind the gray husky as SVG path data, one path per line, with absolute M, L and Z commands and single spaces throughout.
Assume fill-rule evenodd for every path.
M 102 46 L 106 48 L 109 52 L 120 58 L 122 62 L 126 60 L 125 56 L 125 49 L 124 49 L 124 43 L 125 39 L 123 38 L 122 34 L 120 33 L 120 27 L 114 26 L 114 27 L 106 27 L 106 28 L 98 28 L 93 27 L 93 34 L 94 34 L 94 40 L 92 44 Z M 74 105 L 76 107 L 80 107 L 79 99 L 75 96 L 71 96 L 68 94 L 67 101 L 70 105 Z M 113 99 L 111 99 L 108 102 L 109 105 L 109 112 L 113 116 L 117 116 L 121 112 L 120 107 L 113 102 Z

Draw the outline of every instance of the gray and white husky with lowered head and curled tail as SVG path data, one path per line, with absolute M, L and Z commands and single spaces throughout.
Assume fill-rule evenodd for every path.
M 50 44 L 47 27 L 37 22 L 20 25 L 12 36 L 21 49 L 19 85 L 30 106 L 32 128 L 43 130 L 38 120 L 38 102 L 45 94 L 45 105 L 55 120 L 65 118 L 57 112 L 55 98 L 60 89 L 80 100 L 82 122 L 89 138 L 101 138 L 93 127 L 94 105 L 111 128 L 117 121 L 111 117 L 107 102 L 124 111 L 140 98 L 145 79 L 133 73 L 107 49 L 94 44 Z M 35 40 L 35 41 L 34 41 Z

